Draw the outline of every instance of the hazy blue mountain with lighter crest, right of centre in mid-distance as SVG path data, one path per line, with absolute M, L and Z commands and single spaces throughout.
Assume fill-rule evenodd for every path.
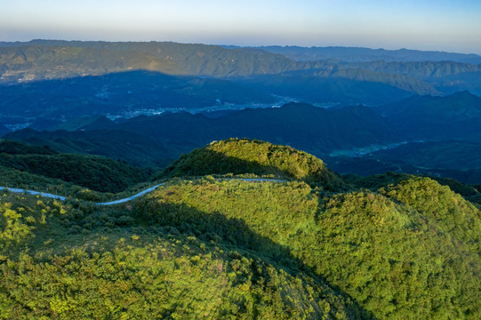
M 413 94 L 439 95 L 431 84 L 409 76 L 362 68 L 328 66 L 239 80 L 253 89 L 309 102 L 385 104 Z

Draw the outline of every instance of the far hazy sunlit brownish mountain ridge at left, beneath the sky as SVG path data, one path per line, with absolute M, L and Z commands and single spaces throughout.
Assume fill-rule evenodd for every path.
M 170 75 L 252 76 L 312 65 L 261 50 L 229 50 L 205 44 L 36 40 L 0 47 L 3 82 L 102 75 L 132 69 Z

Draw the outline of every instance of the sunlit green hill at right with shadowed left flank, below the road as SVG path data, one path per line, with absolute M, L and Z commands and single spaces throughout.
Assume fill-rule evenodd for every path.
M 433 180 L 324 199 L 299 183 L 186 182 L 137 208 L 180 232 L 221 235 L 274 257 L 280 244 L 377 318 L 479 316 L 480 212 Z M 225 217 L 267 239 L 245 238 Z

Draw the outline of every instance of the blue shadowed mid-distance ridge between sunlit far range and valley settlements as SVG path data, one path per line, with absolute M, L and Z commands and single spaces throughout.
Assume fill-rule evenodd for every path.
M 94 115 L 137 116 L 166 110 L 213 110 L 273 105 L 293 100 L 380 105 L 413 94 L 437 95 L 432 85 L 402 75 L 360 68 L 322 68 L 244 78 L 169 76 L 137 70 L 0 85 L 4 116 L 35 118 L 32 128 L 46 129 L 39 118 L 58 123 Z M 42 120 L 42 121 L 44 121 Z

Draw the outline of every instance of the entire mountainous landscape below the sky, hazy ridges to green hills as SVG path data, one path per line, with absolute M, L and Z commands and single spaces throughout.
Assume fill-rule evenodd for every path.
M 0 319 L 478 319 L 481 58 L 0 43 Z

